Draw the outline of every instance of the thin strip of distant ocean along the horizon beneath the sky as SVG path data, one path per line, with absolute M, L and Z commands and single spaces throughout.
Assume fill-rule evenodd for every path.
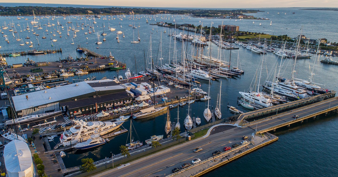
M 26 3 L 26 2 L 4 2 L 3 5 L 5 4 L 59 4 L 59 3 Z M 1 5 L 1 6 L 3 6 Z M 224 8 L 217 8 L 217 7 L 208 7 L 208 8 L 203 8 L 203 7 L 139 7 L 139 6 L 111 6 L 111 5 L 91 5 L 91 4 L 60 4 L 60 5 L 77 5 L 77 6 L 108 6 L 108 7 L 123 7 L 123 8 L 158 8 L 158 9 L 165 9 L 165 8 L 182 8 L 182 9 L 249 9 L 249 8 L 337 8 L 338 7 L 224 7 Z M 34 6 L 34 5 L 25 5 L 25 6 Z M 38 5 L 35 5 L 38 6 Z M 75 7 L 76 8 L 76 7 Z M 93 7 L 95 8 L 95 7 Z

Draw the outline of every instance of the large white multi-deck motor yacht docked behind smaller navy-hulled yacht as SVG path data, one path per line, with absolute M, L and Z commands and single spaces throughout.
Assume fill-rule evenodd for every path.
M 99 135 L 105 135 L 114 130 L 118 129 L 124 121 L 118 122 L 85 122 L 83 120 L 75 121 L 76 125 L 71 127 L 68 131 L 65 131 L 61 134 L 60 144 L 57 146 L 69 146 L 74 145 L 78 142 L 86 141 L 90 138 L 90 135 L 95 133 L 95 130 L 99 132 Z M 57 147 L 56 147 L 57 148 Z

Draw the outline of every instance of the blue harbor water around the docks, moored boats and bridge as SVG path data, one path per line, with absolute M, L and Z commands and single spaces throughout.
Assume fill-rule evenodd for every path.
M 61 5 L 60 5 L 61 6 Z M 304 26 L 303 34 L 309 37 L 310 39 L 317 38 L 327 38 L 329 41 L 338 41 L 338 20 L 337 20 L 337 11 L 308 11 L 308 10 L 298 10 L 297 8 L 262 8 L 265 12 L 259 12 L 254 14 L 257 17 L 269 18 L 271 20 L 255 20 L 255 24 L 252 24 L 253 20 L 243 20 L 243 21 L 235 21 L 228 19 L 200 19 L 200 18 L 192 18 L 188 19 L 185 17 L 181 19 L 181 16 L 171 16 L 167 15 L 167 20 L 161 20 L 161 15 L 158 15 L 156 21 L 152 18 L 149 18 L 149 24 L 159 21 L 164 22 L 172 22 L 175 19 L 176 23 L 189 23 L 194 25 L 199 25 L 199 21 L 203 22 L 203 26 L 210 26 L 213 22 L 213 26 L 221 25 L 222 21 L 224 24 L 234 24 L 239 25 L 240 30 L 242 31 L 257 31 L 257 32 L 265 32 L 269 34 L 275 35 L 283 35 L 288 34 L 291 37 L 295 37 L 299 35 L 301 26 Z M 269 12 L 269 14 L 267 14 Z M 280 14 L 277 14 L 279 12 Z M 292 14 L 295 12 L 295 14 Z M 286 13 L 286 15 L 285 15 Z M 126 16 L 130 17 L 130 16 Z M 124 18 L 122 21 L 115 16 L 115 20 L 103 20 L 96 19 L 96 24 L 93 24 L 93 20 L 88 20 L 84 18 L 83 20 L 77 20 L 77 18 L 70 17 L 71 24 L 70 26 L 76 26 L 76 22 L 80 25 L 82 23 L 94 25 L 95 32 L 85 35 L 84 32 L 88 32 L 89 26 L 84 27 L 84 30 L 77 32 L 77 37 L 73 38 L 75 44 L 72 43 L 73 31 L 69 31 L 70 35 L 67 36 L 66 24 L 69 20 L 63 20 L 62 17 L 56 18 L 55 20 L 50 19 L 40 19 L 40 23 L 43 29 L 37 30 L 37 27 L 34 27 L 34 31 L 28 32 L 28 30 L 14 33 L 15 37 L 11 31 L 2 30 L 4 34 L 8 35 L 8 39 L 10 41 L 7 44 L 2 37 L 0 40 L 0 53 L 3 52 L 12 52 L 16 51 L 24 51 L 30 50 L 28 45 L 19 46 L 21 41 L 16 41 L 15 39 L 19 37 L 23 39 L 24 42 L 31 40 L 33 42 L 34 47 L 37 49 L 55 49 L 62 48 L 62 53 L 55 54 L 46 54 L 46 55 L 37 55 L 37 56 L 18 56 L 18 57 L 6 57 L 8 64 L 17 64 L 25 62 L 25 59 L 29 57 L 36 62 L 39 61 L 55 61 L 59 58 L 63 59 L 67 56 L 72 56 L 73 58 L 81 57 L 81 53 L 76 52 L 77 45 L 81 45 L 88 49 L 91 49 L 97 53 L 109 55 L 109 52 L 112 52 L 114 57 L 118 60 L 124 61 L 127 64 L 127 68 L 130 68 L 132 71 L 140 71 L 141 68 L 144 68 L 144 51 L 146 57 L 148 56 L 148 48 L 150 35 L 152 36 L 152 56 L 154 62 L 160 63 L 158 58 L 161 56 L 161 51 L 159 50 L 160 46 L 160 38 L 162 34 L 162 63 L 168 62 L 169 58 L 169 45 L 171 45 L 170 51 L 173 51 L 173 39 L 167 36 L 172 28 L 164 28 L 157 27 L 153 25 L 146 24 L 146 18 L 143 15 L 140 20 L 128 20 L 128 18 Z M 165 15 L 162 15 L 165 17 Z M 12 20 L 15 24 L 16 30 L 20 31 L 21 29 L 25 29 L 27 26 L 27 22 L 29 27 L 32 29 L 32 26 L 29 22 L 32 20 L 32 17 L 27 17 L 29 20 L 23 20 L 26 17 L 23 17 L 21 20 L 17 20 L 16 17 L 0 17 L 0 26 L 12 23 Z M 170 20 L 168 19 L 170 18 Z M 107 17 L 108 19 L 108 17 Z M 57 30 L 57 20 L 62 24 L 64 30 L 61 30 L 62 34 L 58 34 Z M 46 26 L 44 24 L 48 23 L 55 24 L 55 26 L 47 27 L 48 34 L 45 31 Z M 272 25 L 270 26 L 270 21 L 272 21 Z M 21 26 L 17 26 L 17 24 Z M 129 24 L 135 23 L 135 26 L 140 26 L 133 31 Z M 259 23 L 262 23 L 262 26 L 259 26 Z M 68 24 L 69 25 L 69 24 Z M 102 26 L 105 27 L 102 27 Z M 108 31 L 107 27 L 116 28 L 115 31 Z M 122 28 L 121 28 L 122 26 Z M 61 27 L 61 26 L 58 26 Z M 76 27 L 75 27 L 76 28 Z M 107 33 L 105 36 L 106 41 L 101 45 L 94 44 L 97 41 L 97 34 L 103 32 Z M 152 30 L 154 29 L 154 30 Z M 116 41 L 116 31 L 121 30 L 124 32 L 125 37 L 123 38 L 121 35 L 120 43 Z M 158 32 L 156 32 L 156 30 Z M 166 30 L 167 33 L 163 33 Z M 38 45 L 38 40 L 32 32 L 36 32 L 40 34 L 37 38 L 39 40 L 40 45 Z M 52 33 L 50 33 L 52 32 Z M 138 33 L 141 38 L 141 42 L 138 44 L 131 44 L 130 41 L 133 41 L 133 32 L 135 34 L 135 38 L 137 38 Z M 176 30 L 176 32 L 182 32 L 182 30 Z M 56 34 L 56 36 L 52 36 L 52 34 Z M 186 32 L 185 32 L 186 33 Z M 189 32 L 191 34 L 191 32 Z M 26 36 L 29 36 L 31 39 L 25 39 Z M 42 39 L 42 36 L 45 35 L 47 39 Z M 61 37 L 59 37 L 61 35 Z M 67 39 L 66 39 L 67 37 Z M 86 39 L 88 37 L 88 39 Z M 99 36 L 100 40 L 103 39 L 103 36 Z M 52 42 L 50 39 L 57 39 L 57 42 L 53 42 L 53 47 L 51 46 Z M 88 44 L 86 44 L 88 43 Z M 97 49 L 96 47 L 99 46 Z M 181 60 L 181 51 L 182 51 L 182 42 L 177 41 L 177 60 Z M 191 44 L 184 43 L 184 47 L 188 48 L 188 54 L 191 54 Z M 212 56 L 217 57 L 218 55 L 218 47 L 214 44 L 209 45 L 212 49 Z M 208 55 L 207 49 L 209 47 L 204 47 L 204 54 Z M 237 96 L 240 96 L 238 92 L 246 91 L 250 88 L 250 84 L 256 70 L 259 67 L 260 60 L 263 55 L 251 52 L 249 50 L 240 47 L 239 50 L 232 50 L 231 56 L 231 65 L 237 65 L 237 51 L 239 52 L 240 64 L 245 74 L 241 77 L 235 78 L 227 78 L 222 79 L 222 90 L 221 90 L 221 103 L 222 103 L 222 117 L 232 116 L 226 105 L 236 105 Z M 222 50 L 222 60 L 229 61 L 230 51 Z M 135 59 L 137 61 L 137 66 L 135 66 Z M 173 59 L 173 54 L 170 55 L 171 60 Z M 315 62 L 314 68 L 314 80 L 317 83 L 324 84 L 324 88 L 329 88 L 330 90 L 338 90 L 337 83 L 337 66 L 334 65 L 326 65 L 320 62 L 324 56 L 319 56 L 319 58 L 315 59 L 315 57 L 311 57 L 310 59 L 298 60 L 296 65 L 296 74 L 295 77 L 301 79 L 309 79 L 310 71 L 309 66 L 312 69 L 312 66 Z M 337 57 L 332 57 L 334 60 L 337 60 Z M 99 60 L 99 59 L 98 59 Z M 315 61 L 316 60 L 316 61 Z M 94 60 L 89 60 L 90 62 Z M 276 58 L 276 55 L 272 53 L 268 53 L 264 58 L 264 68 L 262 72 L 261 83 L 263 83 L 267 77 L 267 73 L 273 70 L 273 66 L 275 62 L 280 61 L 280 59 Z M 289 62 L 290 61 L 290 62 Z M 292 71 L 292 65 L 294 60 L 289 60 L 285 62 L 283 65 L 282 73 L 284 77 L 290 77 Z M 55 63 L 56 65 L 56 63 Z M 107 76 L 107 78 L 113 78 L 113 76 L 123 75 L 125 70 L 120 71 L 104 71 L 97 73 L 90 73 L 89 75 L 81 76 L 81 78 L 87 78 L 90 75 L 97 76 L 98 79 L 103 76 Z M 69 78 L 70 80 L 72 77 Z M 208 91 L 208 82 L 204 80 L 201 81 L 201 88 L 204 91 Z M 216 106 L 217 94 L 219 93 L 220 80 L 211 81 L 211 90 L 210 96 L 212 97 L 210 104 L 212 106 Z M 195 102 L 192 104 L 191 109 L 195 116 L 199 116 L 203 118 L 203 110 L 206 107 L 206 102 Z M 182 125 L 181 130 L 184 130 L 183 121 L 187 115 L 188 106 L 179 108 L 179 121 Z M 239 107 L 242 111 L 245 110 L 242 107 Z M 177 108 L 170 111 L 171 113 L 171 121 L 173 122 L 175 118 L 177 118 Z M 229 163 L 226 166 L 223 166 L 205 176 L 232 176 L 243 173 L 249 173 L 252 176 L 335 176 L 335 172 L 337 170 L 337 158 L 338 152 L 336 149 L 338 145 L 335 143 L 334 135 L 337 134 L 338 120 L 336 119 L 338 116 L 336 114 L 331 114 L 326 117 L 321 117 L 317 120 L 305 121 L 303 124 L 292 125 L 289 129 L 280 129 L 274 132 L 277 136 L 279 136 L 279 141 L 266 146 L 262 149 L 259 149 L 251 154 L 246 155 L 232 163 Z M 133 125 L 135 126 L 136 131 L 133 131 L 133 136 L 135 140 L 143 141 L 149 139 L 152 135 L 161 135 L 164 134 L 164 123 L 165 123 L 165 115 L 152 118 L 152 119 L 144 119 L 133 121 Z M 202 119 L 202 124 L 206 124 L 204 119 Z M 124 128 L 129 128 L 130 120 L 123 124 Z M 69 151 L 67 152 L 67 156 L 64 158 L 64 163 L 67 168 L 79 166 L 81 165 L 80 159 L 90 157 L 95 161 L 103 159 L 105 157 L 109 157 L 110 152 L 117 154 L 119 153 L 119 146 L 126 144 L 128 135 L 127 133 L 118 135 L 113 138 L 110 143 L 105 144 L 95 150 L 91 151 Z M 53 146 L 53 142 L 51 143 Z M 323 148 L 324 147 L 324 148 Z M 75 159 L 75 160 L 74 160 Z

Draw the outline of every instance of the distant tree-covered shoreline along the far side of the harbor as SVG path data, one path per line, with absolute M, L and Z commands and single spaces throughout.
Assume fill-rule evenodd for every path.
M 42 6 L 0 6 L 1 16 L 27 16 L 33 15 L 129 15 L 129 14 L 186 14 L 199 17 L 222 17 L 229 15 L 243 15 L 248 13 L 261 12 L 260 10 L 251 9 L 234 9 L 234 10 L 214 10 L 214 9 L 156 9 L 156 8 L 81 8 L 81 7 L 42 7 Z

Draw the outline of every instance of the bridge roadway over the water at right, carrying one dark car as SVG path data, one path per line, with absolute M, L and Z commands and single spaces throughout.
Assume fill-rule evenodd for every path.
M 259 122 L 247 124 L 246 126 L 251 127 L 252 129 L 257 128 L 257 131 L 259 131 L 259 130 L 263 130 L 263 129 L 273 127 L 279 124 L 293 121 L 295 120 L 295 118 L 292 118 L 292 116 L 294 115 L 299 116 L 298 119 L 301 119 L 302 117 L 306 117 L 313 113 L 316 113 L 316 112 L 319 112 L 325 109 L 329 109 L 335 106 L 338 106 L 338 97 L 324 100 L 318 103 L 314 103 L 306 107 L 297 108 L 297 109 L 292 110 L 291 112 L 289 111 L 284 112 L 279 115 L 272 116 L 272 119 L 267 118 Z

